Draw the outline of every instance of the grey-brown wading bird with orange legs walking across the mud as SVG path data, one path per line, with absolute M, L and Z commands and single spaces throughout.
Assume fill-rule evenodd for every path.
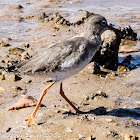
M 108 24 L 104 17 L 99 15 L 90 17 L 85 23 L 84 32 L 81 35 L 49 46 L 28 61 L 17 65 L 20 73 L 36 73 L 39 75 L 43 72 L 53 79 L 53 82 L 43 90 L 33 113 L 29 116 L 28 126 L 31 121 L 37 125 L 34 117 L 43 96 L 58 81 L 61 83 L 60 95 L 71 105 L 76 113 L 83 113 L 65 96 L 62 81 L 81 71 L 91 61 L 101 45 L 101 34 L 107 29 Z

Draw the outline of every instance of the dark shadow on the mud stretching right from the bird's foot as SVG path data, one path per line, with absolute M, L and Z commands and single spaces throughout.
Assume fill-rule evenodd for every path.
M 140 120 L 140 108 L 117 108 L 110 111 L 106 111 L 104 107 L 98 107 L 94 110 L 84 112 L 84 114 L 95 114 L 95 115 L 107 115 L 107 116 L 116 116 L 116 117 L 130 117 L 135 120 Z

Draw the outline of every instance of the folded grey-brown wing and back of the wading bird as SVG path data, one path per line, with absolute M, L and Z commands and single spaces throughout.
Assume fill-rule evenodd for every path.
M 17 67 L 21 73 L 65 71 L 89 59 L 89 48 L 94 46 L 96 45 L 84 37 L 75 37 L 46 48 L 28 61 L 19 63 Z

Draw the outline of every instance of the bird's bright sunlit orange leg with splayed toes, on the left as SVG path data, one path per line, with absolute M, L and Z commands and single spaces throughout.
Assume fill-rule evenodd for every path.
M 50 88 L 54 83 L 55 83 L 55 82 L 51 83 L 47 88 L 45 88 L 45 89 L 43 90 L 43 92 L 42 92 L 42 94 L 41 94 L 41 96 L 40 96 L 40 98 L 39 98 L 39 100 L 38 100 L 38 103 L 37 103 L 37 105 L 36 105 L 36 107 L 35 107 L 33 113 L 29 116 L 27 126 L 29 126 L 29 124 L 30 124 L 31 121 L 34 123 L 34 125 L 37 125 L 37 123 L 35 122 L 35 119 L 34 119 L 35 114 L 36 114 L 36 112 L 37 112 L 37 109 L 38 109 L 38 107 L 39 107 L 39 105 L 40 105 L 40 103 L 41 103 L 41 101 L 42 101 L 44 95 L 46 94 L 46 92 L 49 90 L 49 88 Z

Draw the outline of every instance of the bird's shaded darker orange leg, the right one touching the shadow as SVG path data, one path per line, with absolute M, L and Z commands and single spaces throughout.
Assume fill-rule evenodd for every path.
M 65 96 L 64 91 L 62 89 L 62 83 L 60 84 L 60 95 L 69 103 L 69 105 L 71 105 L 71 107 L 76 111 L 77 114 L 82 114 L 84 112 L 80 111 L 79 109 L 77 109 L 72 102 Z

